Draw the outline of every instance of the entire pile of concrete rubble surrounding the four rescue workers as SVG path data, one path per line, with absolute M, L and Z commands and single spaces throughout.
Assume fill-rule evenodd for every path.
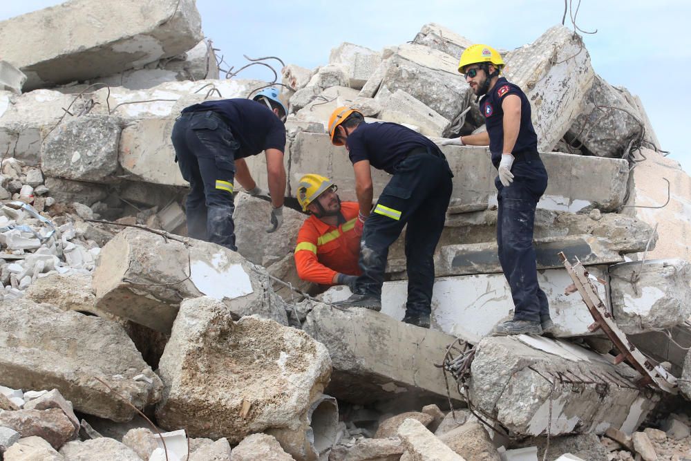
M 185 106 L 271 82 L 220 78 L 193 1 L 72 0 L 0 23 L 1 460 L 691 458 L 683 406 L 665 411 L 615 360 L 557 256 L 605 282 L 618 328 L 691 399 L 691 178 L 568 28 L 502 50 L 550 177 L 534 237 L 554 338 L 491 337 L 513 301 L 483 147 L 443 148 L 455 177 L 432 328 L 401 322 L 402 236 L 381 312 L 334 308 L 343 286 L 303 296 L 323 290 L 294 265 L 299 178 L 356 198 L 325 129 L 337 106 L 428 136 L 484 129 L 457 73 L 473 41 L 433 23 L 410 38 L 281 70 L 284 224 L 263 232 L 269 204 L 239 191 L 231 252 L 185 236 L 171 127 Z M 263 156 L 247 164 L 266 189 Z M 372 179 L 376 198 L 388 175 Z M 474 351 L 462 382 L 441 368 L 455 341 Z

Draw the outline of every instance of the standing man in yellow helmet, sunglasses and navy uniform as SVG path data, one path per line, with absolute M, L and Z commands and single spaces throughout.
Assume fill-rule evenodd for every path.
M 538 284 L 533 225 L 536 205 L 547 189 L 547 171 L 538 153 L 530 102 L 518 86 L 500 76 L 503 67 L 494 48 L 478 44 L 464 50 L 458 71 L 480 100 L 487 131 L 442 144 L 489 145 L 499 173 L 494 180 L 499 202 L 499 261 L 515 306 L 513 320 L 497 326 L 495 333 L 541 335 L 553 323 L 547 297 Z

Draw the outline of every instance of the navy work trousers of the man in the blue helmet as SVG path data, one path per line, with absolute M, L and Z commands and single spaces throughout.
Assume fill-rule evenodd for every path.
M 237 251 L 233 181 L 240 144 L 213 111 L 180 115 L 171 140 L 182 178 L 190 187 L 185 207 L 187 235 Z

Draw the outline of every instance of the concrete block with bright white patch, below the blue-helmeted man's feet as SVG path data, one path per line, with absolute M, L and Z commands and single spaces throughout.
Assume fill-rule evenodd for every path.
M 260 314 L 287 325 L 283 306 L 265 299 L 268 277 L 240 254 L 141 229 L 124 229 L 102 248 L 93 289 L 98 308 L 164 333 L 180 300 L 204 295 L 223 300 L 238 317 Z

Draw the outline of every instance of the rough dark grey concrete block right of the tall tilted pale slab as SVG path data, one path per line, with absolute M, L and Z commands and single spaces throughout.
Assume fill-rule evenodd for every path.
M 583 112 L 569 128 L 567 138 L 571 145 L 585 147 L 594 156 L 621 158 L 645 128 L 636 112 L 619 91 L 595 75 Z

